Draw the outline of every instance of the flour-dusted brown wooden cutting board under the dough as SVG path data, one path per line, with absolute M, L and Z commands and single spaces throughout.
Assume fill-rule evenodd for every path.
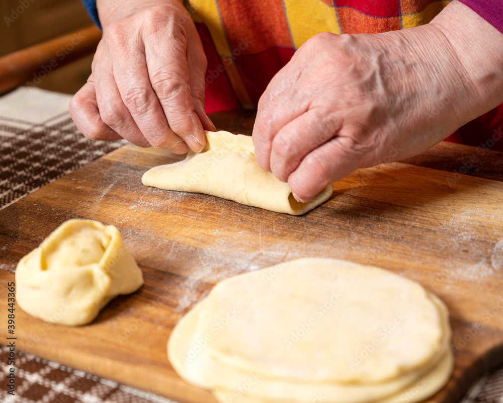
M 254 117 L 234 112 L 213 120 L 250 133 Z M 7 282 L 19 259 L 63 221 L 91 218 L 119 228 L 145 285 L 110 302 L 89 326 L 49 325 L 17 308 L 18 349 L 175 400 L 214 402 L 166 359 L 177 321 L 222 279 L 330 257 L 391 270 L 447 303 L 456 367 L 429 401 L 457 401 L 477 376 L 503 363 L 502 156 L 442 143 L 350 175 L 334 184 L 328 202 L 295 217 L 145 187 L 147 169 L 180 157 L 123 147 L 0 211 L 2 332 Z M 466 175 L 453 172 L 464 166 Z

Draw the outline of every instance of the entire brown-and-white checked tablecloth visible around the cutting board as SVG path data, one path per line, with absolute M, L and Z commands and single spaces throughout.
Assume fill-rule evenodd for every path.
M 125 143 L 83 137 L 68 114 L 70 98 L 34 88 L 20 88 L 0 98 L 0 209 Z M 0 350 L 0 401 L 5 403 L 173 403 L 17 354 L 19 386 L 12 396 L 6 382 L 8 350 Z M 462 403 L 503 403 L 503 369 L 477 382 Z

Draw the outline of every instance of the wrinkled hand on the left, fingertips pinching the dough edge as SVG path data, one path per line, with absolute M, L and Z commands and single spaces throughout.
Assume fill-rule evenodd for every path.
M 103 38 L 70 103 L 75 124 L 95 140 L 200 151 L 204 130 L 215 129 L 204 111 L 206 56 L 189 13 L 179 0 L 115 6 L 99 2 Z

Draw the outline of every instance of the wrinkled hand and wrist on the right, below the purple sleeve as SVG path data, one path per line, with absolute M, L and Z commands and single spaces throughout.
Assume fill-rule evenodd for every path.
M 473 14 L 491 35 L 501 36 L 455 3 L 448 6 L 451 13 Z M 461 18 L 460 24 L 466 22 Z M 432 147 L 498 105 L 501 93 L 488 88 L 487 77 L 483 85 L 474 77 L 477 67 L 460 60 L 462 46 L 452 45 L 448 34 L 430 23 L 378 35 L 312 37 L 260 99 L 253 131 L 258 164 L 306 202 L 359 168 Z M 500 75 L 492 82 L 498 91 L 500 67 L 489 67 Z

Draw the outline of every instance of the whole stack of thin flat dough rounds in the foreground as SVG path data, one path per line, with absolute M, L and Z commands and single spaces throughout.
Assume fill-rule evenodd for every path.
M 413 403 L 449 379 L 450 340 L 446 306 L 421 285 L 308 258 L 217 284 L 167 348 L 222 403 Z

